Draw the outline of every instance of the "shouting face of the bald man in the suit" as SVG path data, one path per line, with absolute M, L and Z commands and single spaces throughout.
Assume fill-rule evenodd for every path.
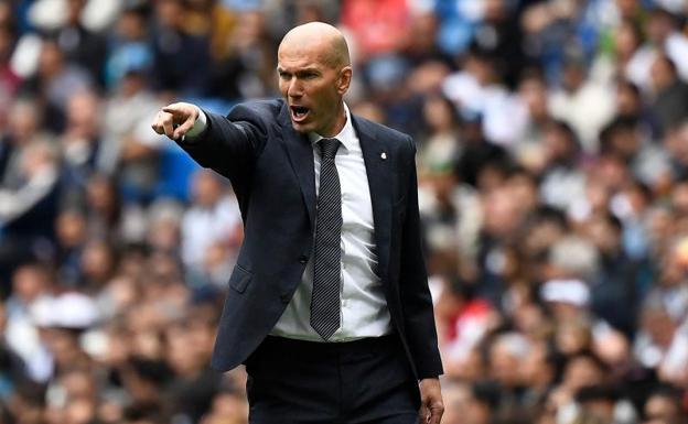
M 346 122 L 342 98 L 352 69 L 329 65 L 323 53 L 322 46 L 281 45 L 277 72 L 293 129 L 332 137 Z

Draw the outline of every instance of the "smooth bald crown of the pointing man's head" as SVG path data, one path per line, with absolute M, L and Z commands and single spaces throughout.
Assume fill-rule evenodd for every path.
M 344 34 L 324 22 L 309 22 L 293 28 L 280 43 L 279 52 L 284 51 L 316 54 L 325 65 L 335 69 L 351 65 Z

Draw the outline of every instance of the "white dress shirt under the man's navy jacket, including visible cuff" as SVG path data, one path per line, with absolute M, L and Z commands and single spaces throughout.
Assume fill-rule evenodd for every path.
M 391 333 L 391 322 L 381 281 L 377 274 L 377 248 L 373 222 L 373 204 L 361 142 L 344 105 L 346 123 L 334 138 L 342 144 L 335 156 L 342 191 L 342 284 L 340 285 L 341 326 L 327 341 L 348 341 L 379 337 Z M 206 126 L 201 112 L 192 131 L 198 134 Z M 315 170 L 315 194 L 320 189 L 320 134 L 310 133 Z M 284 313 L 270 331 L 273 336 L 324 341 L 311 327 L 313 292 L 313 252 L 301 283 Z

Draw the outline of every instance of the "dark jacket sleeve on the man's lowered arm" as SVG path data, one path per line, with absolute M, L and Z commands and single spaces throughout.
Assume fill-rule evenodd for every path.
M 416 362 L 418 378 L 423 379 L 438 377 L 443 371 L 438 349 L 432 297 L 428 289 L 428 273 L 422 256 L 415 161 L 416 145 L 410 138 L 408 142 L 410 144 L 409 182 L 406 219 L 401 228 L 399 287 L 406 336 Z

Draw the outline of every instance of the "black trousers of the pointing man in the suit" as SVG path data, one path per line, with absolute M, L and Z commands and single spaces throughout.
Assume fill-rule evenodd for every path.
M 416 424 L 418 383 L 396 336 L 268 336 L 246 361 L 250 424 Z

